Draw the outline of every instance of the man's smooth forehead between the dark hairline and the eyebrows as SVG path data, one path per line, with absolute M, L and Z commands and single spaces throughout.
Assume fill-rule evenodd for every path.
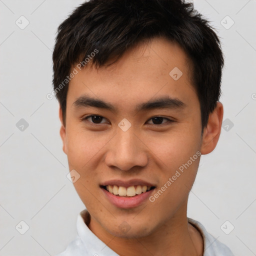
M 100 52 L 98 52 L 100 54 Z M 111 62 L 112 60 L 109 60 Z M 189 59 L 165 38 L 141 42 L 109 66 L 85 66 L 70 80 L 67 107 L 83 94 L 107 99 L 125 109 L 153 97 L 169 95 L 181 101 L 196 97 L 190 82 Z

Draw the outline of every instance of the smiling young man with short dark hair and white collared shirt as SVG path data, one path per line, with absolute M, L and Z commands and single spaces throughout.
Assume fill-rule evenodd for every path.
M 215 32 L 181 0 L 91 0 L 60 24 L 54 93 L 86 209 L 59 256 L 233 255 L 186 216 L 220 134 L 222 66 Z

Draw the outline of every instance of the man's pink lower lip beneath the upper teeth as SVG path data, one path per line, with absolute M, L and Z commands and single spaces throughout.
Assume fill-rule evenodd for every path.
M 123 196 L 118 196 L 114 195 L 104 188 L 101 187 L 101 190 L 104 192 L 106 195 L 107 199 L 116 207 L 118 208 L 133 208 L 138 205 L 140 205 L 142 202 L 144 202 L 152 193 L 154 189 L 148 190 L 144 193 L 137 194 L 131 197 L 123 197 Z

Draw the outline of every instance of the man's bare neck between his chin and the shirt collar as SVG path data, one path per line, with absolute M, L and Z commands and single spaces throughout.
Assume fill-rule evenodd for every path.
M 198 256 L 203 254 L 203 240 L 199 231 L 187 222 L 186 202 L 164 224 L 149 235 L 123 238 L 107 232 L 91 218 L 89 229 L 120 256 Z

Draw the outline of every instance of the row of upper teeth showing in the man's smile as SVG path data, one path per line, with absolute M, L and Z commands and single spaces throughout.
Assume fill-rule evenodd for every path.
M 136 194 L 144 193 L 145 191 L 149 190 L 151 186 L 146 185 L 136 185 L 136 186 L 117 186 L 117 185 L 107 185 L 106 190 L 112 194 L 120 195 L 120 196 L 134 196 Z

